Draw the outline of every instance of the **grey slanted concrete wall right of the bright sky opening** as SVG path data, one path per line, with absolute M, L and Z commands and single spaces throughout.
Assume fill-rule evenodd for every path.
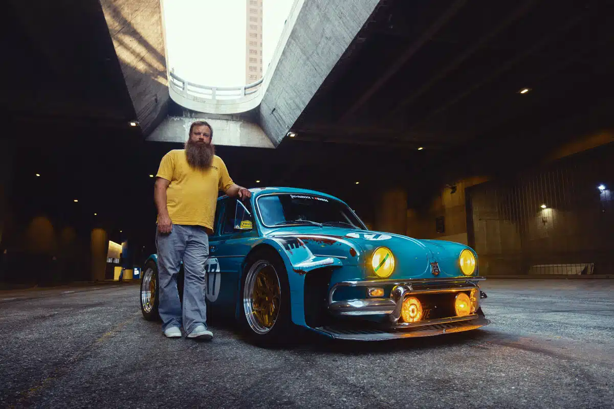
M 271 61 L 260 124 L 275 146 L 332 71 L 379 0 L 297 0 Z M 297 12 L 298 11 L 298 12 Z

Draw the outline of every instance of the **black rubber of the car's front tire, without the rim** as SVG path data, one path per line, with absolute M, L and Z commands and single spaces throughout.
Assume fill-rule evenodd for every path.
M 250 274 L 252 267 L 257 266 L 259 263 L 266 262 L 273 267 L 274 272 L 279 280 L 280 300 L 279 310 L 277 318 L 273 325 L 266 332 L 257 331 L 253 324 L 254 319 L 247 318 L 249 315 L 248 305 L 246 302 L 246 280 Z M 292 328 L 292 321 L 290 319 L 290 285 L 288 283 L 288 275 L 286 272 L 286 266 L 273 249 L 262 248 L 249 254 L 245 263 L 243 274 L 241 275 L 241 292 L 239 292 L 239 326 L 241 331 L 247 338 L 254 343 L 260 343 L 265 345 L 271 345 L 281 342 L 286 342 L 289 338 L 289 332 Z M 254 315 L 252 315 L 254 316 Z M 250 323 L 252 321 L 252 323 Z

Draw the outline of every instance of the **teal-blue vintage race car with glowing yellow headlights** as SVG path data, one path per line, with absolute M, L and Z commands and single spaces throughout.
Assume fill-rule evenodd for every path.
M 480 307 L 475 252 L 462 244 L 369 231 L 340 199 L 305 189 L 220 197 L 206 262 L 208 314 L 230 315 L 255 340 L 292 325 L 351 340 L 468 331 Z M 141 310 L 159 319 L 157 256 L 141 278 Z M 179 273 L 181 296 L 182 272 Z

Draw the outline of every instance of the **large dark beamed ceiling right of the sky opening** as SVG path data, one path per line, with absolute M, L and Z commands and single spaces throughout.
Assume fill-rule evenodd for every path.
M 298 118 L 297 140 L 440 149 L 609 115 L 605 7 L 383 1 Z

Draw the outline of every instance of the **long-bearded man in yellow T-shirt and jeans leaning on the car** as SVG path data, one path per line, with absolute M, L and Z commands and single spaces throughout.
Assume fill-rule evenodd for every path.
M 205 121 L 190 126 L 185 149 L 172 150 L 160 162 L 153 195 L 158 209 L 158 311 L 162 332 L 169 338 L 211 340 L 207 328 L 204 266 L 209 257 L 217 196 L 247 199 L 246 188 L 235 185 L 211 143 L 213 129 Z M 183 312 L 177 273 L 184 262 Z

